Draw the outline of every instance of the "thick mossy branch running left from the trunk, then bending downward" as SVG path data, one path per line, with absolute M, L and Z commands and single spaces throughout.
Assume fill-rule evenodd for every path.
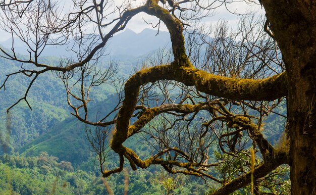
M 195 68 L 175 68 L 170 65 L 141 70 L 125 84 L 125 99 L 118 114 L 117 131 L 113 135 L 111 147 L 114 151 L 120 151 L 121 144 L 128 138 L 129 120 L 136 107 L 139 87 L 163 79 L 175 80 L 188 86 L 195 85 L 198 90 L 207 94 L 234 100 L 275 100 L 287 94 L 286 72 L 263 80 L 254 80 L 222 77 Z

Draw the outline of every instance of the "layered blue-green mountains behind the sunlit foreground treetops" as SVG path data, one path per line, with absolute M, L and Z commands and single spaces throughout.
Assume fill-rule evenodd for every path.
M 0 44 L 11 51 L 12 39 L 0 42 Z M 135 33 L 126 29 L 110 39 L 107 58 L 120 62 L 120 74 L 124 74 L 124 71 L 126 71 L 125 74 L 130 74 L 130 70 L 137 64 L 141 64 L 146 57 L 152 56 L 157 50 L 163 48 L 171 48 L 168 32 L 160 31 L 157 34 L 156 30 L 144 29 L 140 33 Z M 14 40 L 14 49 L 20 55 L 27 54 L 25 43 L 19 39 Z M 50 64 L 58 61 L 58 56 L 70 56 L 71 53 L 67 45 L 48 45 L 41 57 L 45 63 Z M 5 75 L 21 69 L 20 67 L 21 64 L 18 62 L 1 58 L 0 82 L 3 81 Z M 34 156 L 41 151 L 46 151 L 61 160 L 79 165 L 90 155 L 89 143 L 84 132 L 85 124 L 80 123 L 69 114 L 69 108 L 64 101 L 65 89 L 60 82 L 53 84 L 56 81 L 58 79 L 53 75 L 45 74 L 34 83 L 29 94 L 29 101 L 34 109 L 31 111 L 26 104 L 19 104 L 10 112 L 10 128 L 6 127 L 8 126 L 6 124 L 8 116 L 5 110 L 13 104 L 12 102 L 18 100 L 19 96 L 23 95 L 27 82 L 18 76 L 7 83 L 8 90 L 0 91 L 0 141 L 6 141 L 7 145 L 11 145 L 11 149 L 7 152 L 12 150 L 23 155 Z M 111 96 L 109 90 L 104 86 L 100 93 Z M 101 95 L 97 97 L 97 100 L 103 98 Z M 105 111 L 112 106 L 113 101 L 106 98 L 96 104 L 98 106 L 93 109 L 102 108 L 101 110 Z M 95 110 L 91 113 L 99 113 L 99 111 Z M 9 138 L 6 138 L 7 134 Z M 6 152 L 3 150 L 4 146 L 1 147 L 0 144 L 0 154 Z

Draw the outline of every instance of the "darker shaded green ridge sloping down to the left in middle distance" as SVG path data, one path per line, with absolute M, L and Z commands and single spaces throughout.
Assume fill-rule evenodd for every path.
M 115 95 L 109 95 L 108 99 L 98 101 L 93 108 L 89 109 L 90 120 L 95 119 L 97 115 L 104 116 L 109 113 L 116 104 Z M 48 132 L 25 144 L 18 152 L 23 156 L 38 156 L 40 152 L 45 151 L 60 160 L 79 166 L 95 155 L 90 151 L 85 128 L 94 127 L 90 127 L 70 115 L 65 120 L 51 126 Z

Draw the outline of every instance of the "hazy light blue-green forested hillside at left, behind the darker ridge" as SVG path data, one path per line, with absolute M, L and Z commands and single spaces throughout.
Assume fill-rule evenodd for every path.
M 21 64 L 0 59 L 1 82 L 6 79 L 7 74 L 18 70 L 21 70 Z M 0 153 L 17 151 L 69 116 L 65 89 L 57 81 L 51 73 L 41 75 L 27 97 L 32 110 L 21 101 L 7 114 L 6 110 L 23 97 L 29 82 L 29 79 L 25 80 L 20 75 L 9 78 L 6 90 L 0 91 L 0 135 L 3 143 Z M 10 150 L 4 151 L 6 148 Z

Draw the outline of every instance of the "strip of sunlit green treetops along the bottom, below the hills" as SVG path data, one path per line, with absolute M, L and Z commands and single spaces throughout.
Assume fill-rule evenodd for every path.
M 102 181 L 91 172 L 74 170 L 70 162 L 58 161 L 46 152 L 36 157 L 5 154 L 0 160 L 0 194 L 107 194 L 104 182 L 114 194 L 123 194 L 125 178 L 129 181 L 128 194 L 162 194 L 175 180 L 178 181 L 176 190 L 184 194 L 201 194 L 207 190 L 195 178 L 163 175 L 154 169 L 130 172 L 127 177 L 117 174 Z

